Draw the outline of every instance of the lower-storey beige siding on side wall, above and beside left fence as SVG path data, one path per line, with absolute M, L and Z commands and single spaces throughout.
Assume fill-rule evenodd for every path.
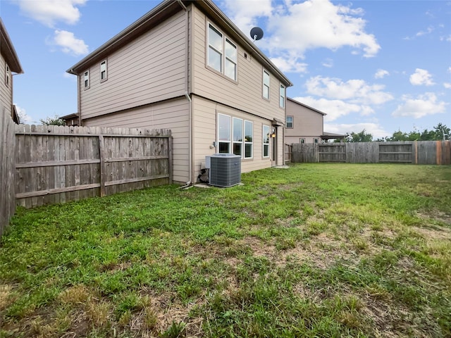
M 170 129 L 173 135 L 173 180 L 180 183 L 189 180 L 189 102 L 185 97 L 89 118 L 83 120 L 83 125 Z

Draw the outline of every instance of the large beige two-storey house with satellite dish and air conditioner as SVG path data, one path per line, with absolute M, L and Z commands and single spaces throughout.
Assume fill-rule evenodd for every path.
M 80 125 L 172 130 L 175 182 L 216 153 L 283 164 L 292 83 L 211 0 L 163 1 L 67 71 Z

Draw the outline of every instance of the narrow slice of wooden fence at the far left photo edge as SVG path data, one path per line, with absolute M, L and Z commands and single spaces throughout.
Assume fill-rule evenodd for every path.
M 11 111 L 0 104 L 0 240 L 1 234 L 16 211 L 14 190 L 14 136 Z

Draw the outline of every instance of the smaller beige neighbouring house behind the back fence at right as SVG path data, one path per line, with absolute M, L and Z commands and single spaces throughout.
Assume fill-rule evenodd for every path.
M 346 135 L 324 132 L 323 118 L 326 113 L 287 98 L 285 144 L 321 143 L 328 139 L 342 139 Z

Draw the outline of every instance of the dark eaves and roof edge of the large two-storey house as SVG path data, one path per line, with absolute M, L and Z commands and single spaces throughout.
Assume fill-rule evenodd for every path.
M 109 39 L 105 44 L 102 44 L 99 48 L 93 51 L 91 54 L 87 55 L 81 61 L 73 65 L 71 68 L 66 70 L 67 73 L 78 75 L 89 68 L 92 63 L 97 63 L 101 61 L 106 56 L 117 51 L 125 44 L 128 44 L 133 39 L 140 37 L 148 30 L 152 29 L 159 23 L 162 23 L 167 18 L 178 11 L 182 11 L 186 6 L 193 4 L 198 8 L 202 9 L 204 13 L 209 15 L 212 20 L 223 26 L 230 37 L 233 37 L 238 44 L 245 46 L 246 49 L 251 51 L 252 56 L 257 58 L 257 60 L 264 65 L 265 68 L 271 70 L 271 73 L 276 75 L 281 82 L 283 82 L 287 87 L 292 86 L 292 82 L 288 80 L 277 67 L 274 65 L 269 58 L 259 49 L 255 44 L 244 35 L 238 27 L 224 14 L 221 9 L 216 6 L 211 0 L 164 0 L 161 4 L 154 7 L 151 11 L 144 14 L 141 18 L 132 23 L 125 28 L 118 35 Z

